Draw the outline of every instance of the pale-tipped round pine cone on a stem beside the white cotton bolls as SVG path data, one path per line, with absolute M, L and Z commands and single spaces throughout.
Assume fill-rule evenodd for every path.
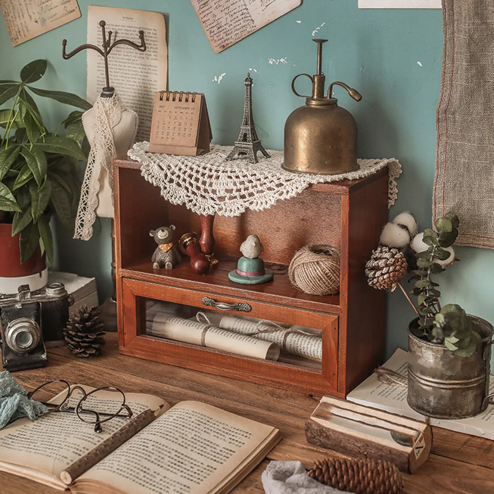
M 366 264 L 367 282 L 372 288 L 394 290 L 407 274 L 405 256 L 397 248 L 379 246 Z

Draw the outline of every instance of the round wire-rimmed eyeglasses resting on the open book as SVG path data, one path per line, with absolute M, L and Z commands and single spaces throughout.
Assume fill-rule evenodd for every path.
M 82 422 L 86 424 L 94 424 L 94 432 L 99 433 L 103 431 L 103 428 L 101 427 L 102 423 L 108 422 L 112 418 L 116 417 L 130 418 L 132 416 L 132 411 L 125 403 L 124 392 L 114 386 L 103 386 L 102 388 L 94 389 L 89 393 L 86 393 L 86 391 L 81 386 L 71 387 L 71 385 L 63 379 L 54 379 L 52 381 L 47 381 L 41 384 L 41 386 L 38 386 L 34 391 L 29 392 L 28 398 L 33 398 L 36 400 L 36 397 L 34 396 L 35 393 L 42 390 L 45 386 L 56 382 L 62 383 L 64 385 L 64 388 L 61 392 L 65 393 L 65 397 L 59 405 L 41 401 L 41 403 L 49 410 L 48 412 L 39 414 L 39 417 L 48 415 L 53 412 L 75 413 L 79 417 L 79 419 L 82 420 Z M 46 391 L 46 389 L 44 389 L 44 391 Z M 73 396 L 75 391 L 81 393 L 82 397 L 77 401 L 77 404 L 75 406 L 71 406 L 71 398 L 72 401 L 77 399 Z M 116 391 L 122 395 L 122 401 L 109 401 L 102 399 L 102 391 Z M 41 393 L 38 393 L 38 396 L 40 395 Z M 105 409 L 105 411 L 97 410 L 99 408 L 103 408 Z M 111 412 L 108 409 L 112 409 L 114 411 Z

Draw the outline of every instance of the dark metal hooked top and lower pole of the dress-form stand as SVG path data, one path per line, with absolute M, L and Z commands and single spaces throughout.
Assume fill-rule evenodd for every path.
M 108 72 L 108 55 L 110 52 L 117 46 L 118 44 L 126 44 L 135 48 L 138 51 L 144 52 L 146 51 L 146 43 L 144 41 L 144 31 L 139 31 L 139 39 L 141 40 L 141 44 L 134 43 L 129 40 L 116 40 L 113 43 L 112 40 L 112 31 L 108 31 L 108 39 L 106 38 L 105 26 L 106 22 L 101 20 L 99 21 L 99 25 L 101 26 L 101 33 L 103 35 L 103 49 L 98 46 L 90 43 L 82 44 L 77 48 L 73 49 L 70 53 L 66 53 L 65 47 L 67 46 L 67 40 L 62 41 L 62 57 L 65 60 L 72 58 L 74 55 L 79 53 L 82 50 L 96 50 L 104 59 L 105 59 L 105 77 L 106 77 L 106 86 L 103 87 L 103 90 L 100 94 L 102 98 L 111 98 L 115 92 L 115 89 L 110 86 L 110 76 Z M 106 331 L 116 331 L 117 330 L 117 286 L 116 286 L 116 272 L 115 272 L 115 221 L 112 218 L 112 283 L 113 283 L 113 291 L 111 297 L 107 298 L 103 304 L 99 306 L 99 319 L 105 325 Z

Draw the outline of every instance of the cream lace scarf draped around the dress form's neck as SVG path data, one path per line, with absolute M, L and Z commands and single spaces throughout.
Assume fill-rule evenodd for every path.
M 81 199 L 77 208 L 75 239 L 89 240 L 92 237 L 92 225 L 96 219 L 96 208 L 98 207 L 98 192 L 100 188 L 99 176 L 101 168 L 104 167 L 108 174 L 108 182 L 113 184 L 113 160 L 117 157 L 113 128 L 122 120 L 125 108 L 115 92 L 110 98 L 98 96 L 93 107 L 87 112 L 94 113 L 94 142 L 92 143 L 87 165 L 82 181 Z M 137 114 L 134 113 L 136 121 Z M 86 113 L 87 113 L 86 112 Z M 135 133 L 132 142 L 135 139 Z M 112 188 L 113 203 L 113 188 Z

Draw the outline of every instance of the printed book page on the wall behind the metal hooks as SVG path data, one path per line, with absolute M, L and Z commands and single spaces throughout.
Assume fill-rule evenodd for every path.
M 168 49 L 165 18 L 159 12 L 89 5 L 88 43 L 101 46 L 101 20 L 106 22 L 106 35 L 112 31 L 112 43 L 124 38 L 139 44 L 139 31 L 144 31 L 146 51 L 118 45 L 108 57 L 108 67 L 110 85 L 115 87 L 124 107 L 139 115 L 136 141 L 148 141 L 155 92 L 166 90 Z M 87 50 L 87 100 L 94 103 L 104 86 L 104 59 L 95 50 Z

